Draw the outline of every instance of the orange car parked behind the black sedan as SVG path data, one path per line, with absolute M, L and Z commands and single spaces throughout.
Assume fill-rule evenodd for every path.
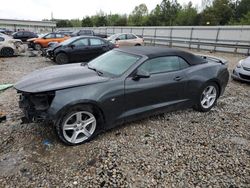
M 50 42 L 63 42 L 68 38 L 70 37 L 61 33 L 48 33 L 39 38 L 28 39 L 27 41 L 29 42 L 29 47 L 40 50 L 41 48 L 47 48 Z

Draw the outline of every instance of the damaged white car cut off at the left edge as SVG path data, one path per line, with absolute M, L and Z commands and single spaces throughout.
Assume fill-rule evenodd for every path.
M 21 40 L 5 34 L 0 35 L 0 57 L 12 57 L 24 51 L 25 47 Z

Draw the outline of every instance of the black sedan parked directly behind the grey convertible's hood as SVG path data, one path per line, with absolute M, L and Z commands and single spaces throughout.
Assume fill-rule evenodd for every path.
M 113 49 L 115 45 L 94 36 L 72 37 L 47 50 L 47 57 L 58 64 L 87 62 Z

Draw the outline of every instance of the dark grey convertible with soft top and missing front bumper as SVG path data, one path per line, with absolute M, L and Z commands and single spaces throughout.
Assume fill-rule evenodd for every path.
M 227 62 L 157 47 L 111 50 L 93 61 L 53 66 L 19 81 L 27 121 L 51 120 L 66 144 L 151 114 L 209 111 L 228 83 Z

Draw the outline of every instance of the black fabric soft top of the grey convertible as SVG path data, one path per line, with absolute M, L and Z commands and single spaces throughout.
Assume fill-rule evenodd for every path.
M 196 56 L 192 53 L 185 52 L 182 50 L 166 47 L 152 47 L 152 46 L 134 46 L 134 47 L 122 47 L 116 49 L 118 51 L 127 52 L 130 54 L 147 56 L 149 59 L 162 57 L 162 56 L 180 56 L 185 59 L 190 65 L 197 65 L 206 63 L 207 60 L 200 56 Z

